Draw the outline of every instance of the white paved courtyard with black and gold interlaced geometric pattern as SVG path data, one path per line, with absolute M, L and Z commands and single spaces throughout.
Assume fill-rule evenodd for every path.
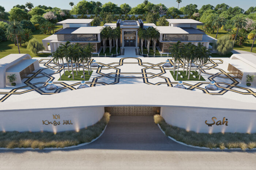
M 20 101 L 29 98 L 76 90 L 80 81 L 58 81 L 60 78 L 57 63 L 52 58 L 37 58 L 40 69 L 23 79 L 23 84 L 15 87 L 7 86 L 0 89 L 0 102 Z M 166 59 L 173 65 L 170 57 L 143 58 L 143 57 L 94 57 L 99 67 L 92 67 L 93 73 L 86 84 L 90 87 L 113 84 L 149 84 L 173 87 L 177 81 L 172 77 L 170 70 L 173 67 L 163 67 Z M 241 85 L 241 80 L 227 72 L 223 61 L 227 58 L 211 58 L 203 66 L 202 76 L 206 81 L 183 81 L 187 90 L 199 93 L 218 95 L 234 100 L 256 103 L 256 88 Z M 93 60 L 93 59 L 92 59 Z M 82 70 L 82 64 L 80 65 Z M 86 69 L 88 68 L 85 66 Z M 183 71 L 184 63 L 180 63 L 179 72 Z M 62 67 L 61 67 L 62 68 Z M 67 67 L 65 67 L 67 70 Z M 192 68 L 195 69 L 195 68 Z M 61 69 L 61 74 L 64 70 Z M 48 81 L 58 86 L 55 90 L 45 90 Z M 207 90 L 205 87 L 210 81 L 215 81 L 217 91 Z M 172 97 L 172 96 L 170 96 Z M 185 96 L 181 96 L 185 97 Z

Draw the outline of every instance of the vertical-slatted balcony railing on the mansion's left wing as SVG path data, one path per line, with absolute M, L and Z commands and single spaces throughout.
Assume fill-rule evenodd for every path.
M 57 34 L 58 41 L 98 41 L 97 34 Z

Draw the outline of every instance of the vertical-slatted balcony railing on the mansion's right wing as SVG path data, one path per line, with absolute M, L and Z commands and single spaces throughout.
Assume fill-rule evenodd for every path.
M 203 34 L 163 34 L 163 41 L 202 41 Z

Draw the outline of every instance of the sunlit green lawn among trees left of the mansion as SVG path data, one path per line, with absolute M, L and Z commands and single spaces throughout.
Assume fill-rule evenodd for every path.
M 56 26 L 56 30 L 59 30 L 60 28 L 62 28 L 62 25 L 61 26 Z M 52 34 L 41 34 L 41 31 L 40 30 L 36 30 L 36 31 L 33 31 L 33 36 L 34 38 L 38 39 L 38 41 L 42 42 L 42 39 L 50 36 Z M 25 44 L 22 44 L 22 46 L 20 47 L 20 53 L 22 54 L 29 54 L 31 55 L 31 57 L 48 57 L 50 54 L 33 54 L 31 53 L 30 51 L 28 51 L 26 49 L 27 47 L 25 46 Z M 5 57 L 6 55 L 9 55 L 9 54 L 18 54 L 19 51 L 18 51 L 18 46 L 15 46 L 14 43 L 12 43 L 11 41 L 3 41 L 3 42 L 0 42 L 0 58 L 3 58 Z

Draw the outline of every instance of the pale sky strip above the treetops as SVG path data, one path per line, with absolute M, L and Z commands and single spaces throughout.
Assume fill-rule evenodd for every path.
M 37 5 L 46 5 L 51 7 L 58 7 L 61 9 L 71 9 L 71 6 L 69 6 L 69 2 L 72 1 L 75 3 L 75 5 L 80 0 L 0 0 L 0 5 L 5 8 L 5 11 L 10 11 L 13 6 L 16 4 L 23 4 L 25 5 L 26 2 L 30 1 L 34 4 L 34 7 Z M 91 1 L 91 0 L 88 0 Z M 94 0 L 97 1 L 97 0 Z M 131 7 L 135 7 L 140 3 L 143 3 L 144 0 L 129 0 L 129 1 L 123 1 L 123 0 L 98 0 L 102 4 L 111 1 L 112 3 L 117 4 L 120 6 L 120 4 L 127 3 Z M 167 8 L 169 7 L 178 7 L 178 3 L 176 3 L 176 0 L 149 0 L 151 3 L 154 4 L 165 4 Z M 200 9 L 202 5 L 211 4 L 213 6 L 216 6 L 217 4 L 225 3 L 229 5 L 230 7 L 240 7 L 244 9 L 245 11 L 251 7 L 256 6 L 256 0 L 182 0 L 182 3 L 180 3 L 180 7 L 184 7 L 188 4 L 197 4 L 197 9 Z

